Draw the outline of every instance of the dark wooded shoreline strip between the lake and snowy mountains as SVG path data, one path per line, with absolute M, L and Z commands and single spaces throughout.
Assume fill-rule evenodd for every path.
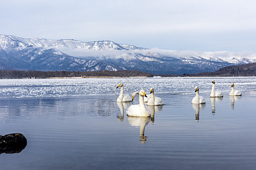
M 10 79 L 10 78 L 61 78 L 61 77 L 103 77 L 103 76 L 113 76 L 113 77 L 130 77 L 130 76 L 143 76 L 143 77 L 152 77 L 152 76 L 256 76 L 256 62 L 248 63 L 245 65 L 237 66 L 227 66 L 223 67 L 217 71 L 209 73 L 197 73 L 197 74 L 158 74 L 154 75 L 151 73 L 146 73 L 143 71 L 109 71 L 109 70 L 100 70 L 100 71 L 36 71 L 36 70 L 0 70 L 1 79 Z

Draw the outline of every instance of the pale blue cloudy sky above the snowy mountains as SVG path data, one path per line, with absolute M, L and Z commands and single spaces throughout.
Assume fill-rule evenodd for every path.
M 256 1 L 0 0 L 0 34 L 256 53 Z

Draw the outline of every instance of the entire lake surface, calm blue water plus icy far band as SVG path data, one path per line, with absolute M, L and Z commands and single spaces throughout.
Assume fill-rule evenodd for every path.
M 211 81 L 222 91 L 210 99 Z M 255 169 L 256 78 L 0 80 L 0 134 L 27 146 L 1 154 L 1 169 Z M 127 117 L 126 94 L 163 99 L 151 118 Z M 231 83 L 240 97 L 230 97 Z M 205 105 L 192 105 L 195 86 Z M 138 96 L 133 104 L 138 104 Z

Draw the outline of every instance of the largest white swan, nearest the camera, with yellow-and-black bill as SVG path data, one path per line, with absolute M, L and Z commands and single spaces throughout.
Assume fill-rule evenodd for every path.
M 138 105 L 131 105 L 126 113 L 127 113 L 127 116 L 134 116 L 134 117 L 150 117 L 151 114 L 150 112 L 148 111 L 148 109 L 146 109 L 145 107 L 145 104 L 144 104 L 144 96 L 147 97 L 146 93 L 144 90 L 141 90 L 141 91 L 137 91 L 137 92 L 134 92 L 134 94 L 132 95 L 132 99 L 134 99 L 134 97 L 136 95 L 139 95 L 139 104 Z

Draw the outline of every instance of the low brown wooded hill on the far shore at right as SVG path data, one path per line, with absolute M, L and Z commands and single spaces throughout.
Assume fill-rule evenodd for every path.
M 185 74 L 184 74 L 185 75 Z M 186 74 L 195 76 L 256 76 L 256 62 L 227 66 L 210 73 Z

